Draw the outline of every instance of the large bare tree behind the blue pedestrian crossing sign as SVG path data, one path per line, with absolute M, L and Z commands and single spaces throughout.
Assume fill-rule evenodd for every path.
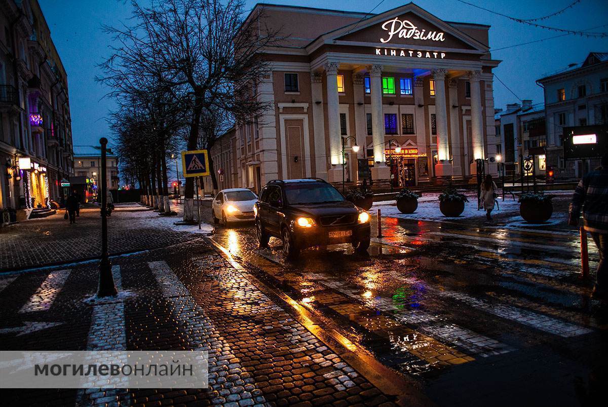
M 244 0 L 153 0 L 148 7 L 132 0 L 131 5 L 133 26 L 106 27 L 119 45 L 102 64 L 103 80 L 131 86 L 152 77 L 185 100 L 188 150 L 198 146 L 204 112 L 224 111 L 244 122 L 268 108 L 255 84 L 269 74 L 263 52 L 278 37 L 261 12 L 246 18 Z M 206 139 L 217 134 L 204 131 Z M 184 221 L 194 218 L 193 192 L 188 178 Z

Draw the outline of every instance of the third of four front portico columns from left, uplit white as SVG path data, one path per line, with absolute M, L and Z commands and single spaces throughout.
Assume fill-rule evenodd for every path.
M 450 147 L 447 137 L 447 111 L 446 111 L 446 69 L 434 69 L 435 79 L 435 119 L 437 120 L 437 155 L 435 164 L 437 178 L 452 178 L 452 162 L 450 160 Z

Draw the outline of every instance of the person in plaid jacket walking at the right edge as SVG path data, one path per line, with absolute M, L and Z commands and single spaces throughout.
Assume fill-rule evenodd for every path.
M 572 197 L 568 224 L 578 226 L 582 209 L 583 227 L 598 246 L 598 272 L 591 296 L 608 300 L 608 153 L 601 166 L 583 176 Z

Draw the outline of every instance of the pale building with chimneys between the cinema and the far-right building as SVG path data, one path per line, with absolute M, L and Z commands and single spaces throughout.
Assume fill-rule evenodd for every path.
M 533 105 L 532 100 L 510 103 L 506 110 L 497 110 L 494 119 L 497 140 L 500 140 L 496 145 L 496 159 L 505 166 L 506 177 L 519 176 L 522 169 L 525 175 L 544 176 L 547 168 L 544 103 Z M 534 170 L 525 170 L 526 159 L 533 160 Z

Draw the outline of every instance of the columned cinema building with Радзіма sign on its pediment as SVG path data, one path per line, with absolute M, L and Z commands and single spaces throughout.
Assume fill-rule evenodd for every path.
M 343 164 L 347 182 L 396 187 L 465 183 L 476 159 L 497 173 L 489 26 L 413 3 L 378 15 L 257 4 L 248 18 L 285 38 L 258 84 L 271 109 L 235 127 L 231 186 L 341 183 Z

